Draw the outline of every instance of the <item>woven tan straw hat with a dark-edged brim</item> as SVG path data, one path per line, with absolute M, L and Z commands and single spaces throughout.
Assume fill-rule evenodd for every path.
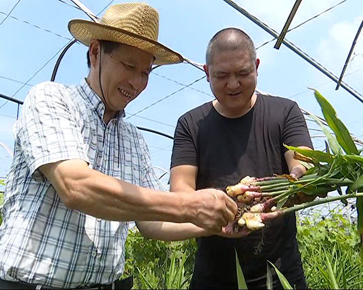
M 184 60 L 179 53 L 157 41 L 159 14 L 145 3 L 125 3 L 107 9 L 100 23 L 73 19 L 68 29 L 75 39 L 89 46 L 92 39 L 128 44 L 154 55 L 154 64 Z

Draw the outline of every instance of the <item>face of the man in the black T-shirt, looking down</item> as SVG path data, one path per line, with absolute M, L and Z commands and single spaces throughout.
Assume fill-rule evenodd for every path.
M 247 50 L 215 51 L 211 63 L 205 65 L 207 81 L 226 113 L 244 111 L 251 104 L 257 84 L 256 62 Z

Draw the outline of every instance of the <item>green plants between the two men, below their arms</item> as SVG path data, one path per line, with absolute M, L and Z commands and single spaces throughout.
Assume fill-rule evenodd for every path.
M 163 242 L 145 239 L 134 228 L 126 241 L 125 273 L 135 289 L 187 289 L 193 273 L 195 239 Z

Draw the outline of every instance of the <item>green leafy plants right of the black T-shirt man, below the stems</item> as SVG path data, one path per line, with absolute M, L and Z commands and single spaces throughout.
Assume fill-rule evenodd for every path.
M 359 258 L 359 236 L 340 212 L 331 218 L 315 215 L 300 221 L 297 241 L 308 287 L 333 289 L 332 275 L 340 288 L 363 288 L 362 264 Z M 332 273 L 329 273 L 329 260 Z

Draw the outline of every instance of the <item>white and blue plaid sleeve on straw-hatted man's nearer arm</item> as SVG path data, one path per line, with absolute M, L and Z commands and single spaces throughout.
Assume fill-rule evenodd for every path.
M 75 111 L 68 91 L 45 82 L 33 87 L 25 99 L 15 134 L 32 177 L 45 181 L 38 168 L 69 159 L 89 163 Z

